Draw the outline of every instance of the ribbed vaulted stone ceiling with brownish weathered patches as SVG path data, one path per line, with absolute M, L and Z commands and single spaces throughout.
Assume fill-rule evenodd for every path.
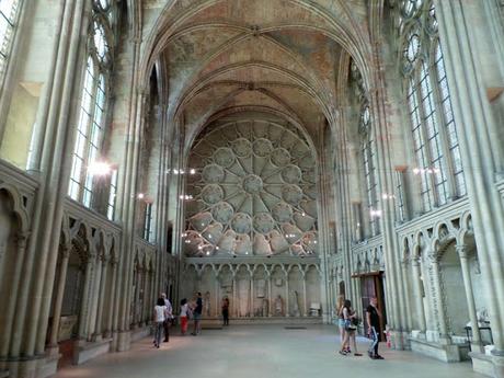
M 317 145 L 337 106 L 341 59 L 368 35 L 366 8 L 365 0 L 173 2 L 153 47 L 168 72 L 170 119 L 191 142 L 220 115 L 274 113 Z

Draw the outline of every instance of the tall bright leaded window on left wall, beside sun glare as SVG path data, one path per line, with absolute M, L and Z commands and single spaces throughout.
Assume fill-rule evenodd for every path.
M 111 87 L 114 16 L 115 9 L 110 0 L 93 1 L 87 66 L 68 190 L 72 199 L 81 202 L 87 207 L 93 205 L 96 184 L 96 171 L 91 167 L 100 159 L 103 144 L 108 88 Z M 111 195 L 107 202 L 107 216 L 111 219 L 114 216 L 116 181 L 117 174 L 113 170 L 110 172 Z

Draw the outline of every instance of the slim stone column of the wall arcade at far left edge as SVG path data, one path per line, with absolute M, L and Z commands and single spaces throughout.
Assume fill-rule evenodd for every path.
M 14 322 L 14 314 L 15 314 L 15 302 L 18 300 L 18 288 L 20 287 L 21 283 L 21 272 L 23 268 L 23 261 L 24 261 L 24 254 L 26 252 L 26 240 L 27 237 L 25 234 L 20 234 L 18 236 L 18 255 L 15 259 L 15 265 L 14 265 L 14 274 L 12 277 L 12 293 L 10 293 L 9 296 L 9 302 L 7 303 L 7 316 L 5 316 L 5 324 L 7 324 L 7 330 L 3 330 L 1 332 L 0 336 L 0 356 L 5 356 L 9 353 L 9 341 L 11 337 L 11 331 L 8 331 L 11 329 L 12 323 Z

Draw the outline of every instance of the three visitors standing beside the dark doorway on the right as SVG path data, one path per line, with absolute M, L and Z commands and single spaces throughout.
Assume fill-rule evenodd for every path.
M 377 305 L 377 298 L 371 297 L 369 306 L 366 308 L 366 330 L 367 336 L 371 341 L 368 350 L 368 355 L 371 359 L 383 359 L 383 357 L 378 354 L 378 345 L 381 340 L 381 312 L 379 311 Z M 354 356 L 362 356 L 362 354 L 357 351 L 357 343 L 355 339 L 359 319 L 355 310 L 352 308 L 352 302 L 348 299 L 344 299 L 343 296 L 340 296 L 337 298 L 335 312 L 337 314 L 337 325 L 340 328 L 341 337 L 341 348 L 339 353 L 343 356 L 352 355 L 352 344 Z

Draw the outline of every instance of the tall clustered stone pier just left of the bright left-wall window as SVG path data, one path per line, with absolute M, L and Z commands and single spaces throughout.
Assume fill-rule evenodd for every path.
M 45 125 L 42 157 L 37 159 L 34 170 L 39 170 L 41 186 L 37 193 L 34 213 L 33 233 L 35 243 L 31 247 L 30 262 L 26 273 L 32 278 L 28 293 L 21 296 L 21 308 L 18 311 L 15 334 L 24 333 L 24 345 L 20 351 L 19 343 L 12 343 L 12 354 L 24 356 L 42 355 L 45 352 L 47 324 L 50 312 L 51 295 L 55 283 L 56 264 L 58 259 L 59 238 L 64 217 L 64 205 L 67 196 L 71 169 L 71 153 L 77 129 L 69 127 L 69 117 L 78 106 L 75 95 L 76 78 L 85 67 L 85 61 L 78 59 L 83 51 L 85 42 L 82 38 L 82 25 L 87 25 L 91 4 L 82 0 L 67 1 L 65 18 L 71 25 L 64 28 L 61 44 L 58 47 L 58 61 L 50 90 L 50 102 L 38 112 L 37 124 Z M 64 21 L 65 22 L 65 21 Z M 57 32 L 58 33 L 58 32 Z M 58 84 L 59 82 L 59 84 Z M 41 150 L 39 150 L 41 151 Z M 35 237 L 36 234 L 36 237 Z M 30 267 L 31 266 L 31 267 Z M 21 340 L 20 340 L 21 341 Z

